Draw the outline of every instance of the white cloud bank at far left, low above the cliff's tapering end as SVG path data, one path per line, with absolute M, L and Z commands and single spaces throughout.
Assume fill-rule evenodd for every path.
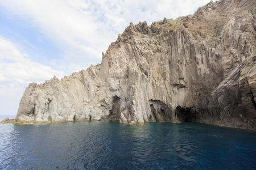
M 31 61 L 26 53 L 10 40 L 0 36 L 0 95 L 15 94 L 24 90 L 30 82 L 44 82 L 53 75 L 64 76 L 62 71 L 53 70 L 38 62 Z

